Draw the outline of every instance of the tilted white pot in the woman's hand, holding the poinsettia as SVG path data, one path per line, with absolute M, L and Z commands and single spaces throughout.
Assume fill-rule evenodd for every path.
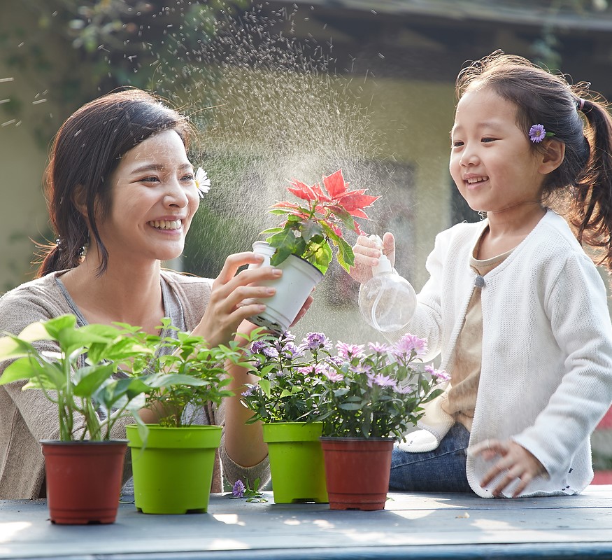
M 266 241 L 255 241 L 253 251 L 264 255 L 264 262 L 261 265 L 250 265 L 250 267 L 270 265 L 274 248 Z M 278 268 L 283 270 L 283 276 L 280 279 L 262 282 L 264 286 L 274 286 L 276 294 L 255 300 L 264 304 L 266 310 L 249 317 L 249 321 L 281 334 L 293 323 L 299 310 L 308 299 L 308 295 L 323 279 L 323 274 L 310 262 L 295 255 L 289 255 L 278 265 Z

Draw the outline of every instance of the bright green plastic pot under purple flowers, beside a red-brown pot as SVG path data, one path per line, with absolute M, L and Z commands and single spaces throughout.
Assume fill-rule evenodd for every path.
M 274 503 L 327 503 L 321 422 L 264 424 Z

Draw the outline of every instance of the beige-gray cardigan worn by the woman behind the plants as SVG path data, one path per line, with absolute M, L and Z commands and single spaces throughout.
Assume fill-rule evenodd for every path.
M 76 314 L 79 323 L 84 324 L 80 311 L 62 283 L 57 281 L 64 272 L 53 272 L 24 283 L 0 297 L 0 332 L 18 334 L 34 321 L 66 313 Z M 211 286 L 210 279 L 162 271 L 164 311 L 171 316 L 174 325 L 183 326 L 185 330 L 195 328 L 204 315 Z M 4 367 L 6 364 L 0 363 L 0 373 Z M 45 468 L 39 440 L 57 439 L 59 435 L 55 405 L 38 391 L 22 391 L 22 385 L 0 386 L 0 499 L 44 497 Z M 203 416 L 202 423 L 225 426 L 223 405 L 208 407 Z M 113 437 L 124 439 L 126 423 L 129 419 L 115 424 Z M 213 492 L 222 491 L 224 475 L 230 484 L 239 478 L 250 482 L 259 478 L 263 486 L 269 480 L 268 459 L 249 468 L 241 467 L 229 458 L 222 440 L 213 472 Z M 124 481 L 130 476 L 128 453 Z

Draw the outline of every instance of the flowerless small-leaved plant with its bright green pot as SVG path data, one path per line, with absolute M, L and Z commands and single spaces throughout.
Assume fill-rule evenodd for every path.
M 170 328 L 165 320 L 163 326 Z M 233 395 L 225 388 L 226 365 L 250 368 L 250 358 L 239 342 L 209 347 L 203 338 L 178 330 L 176 337 L 141 333 L 141 344 L 155 350 L 155 360 L 135 360 L 132 372 L 143 376 L 145 407 L 159 420 L 127 426 L 136 508 L 152 514 L 206 512 L 222 428 L 194 422 L 206 407 Z

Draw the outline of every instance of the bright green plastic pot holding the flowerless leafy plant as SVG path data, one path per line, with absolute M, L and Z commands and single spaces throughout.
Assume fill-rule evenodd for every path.
M 137 426 L 127 426 L 136 509 L 152 514 L 206 513 L 221 427 L 148 428 L 143 445 Z

